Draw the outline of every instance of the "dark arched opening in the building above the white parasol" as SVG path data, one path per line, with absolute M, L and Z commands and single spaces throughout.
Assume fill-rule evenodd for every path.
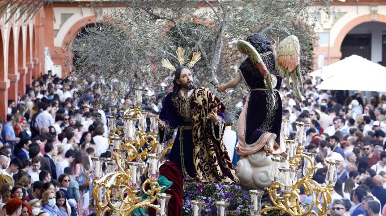
M 386 23 L 364 22 L 352 28 L 344 37 L 341 59 L 356 54 L 386 65 Z

